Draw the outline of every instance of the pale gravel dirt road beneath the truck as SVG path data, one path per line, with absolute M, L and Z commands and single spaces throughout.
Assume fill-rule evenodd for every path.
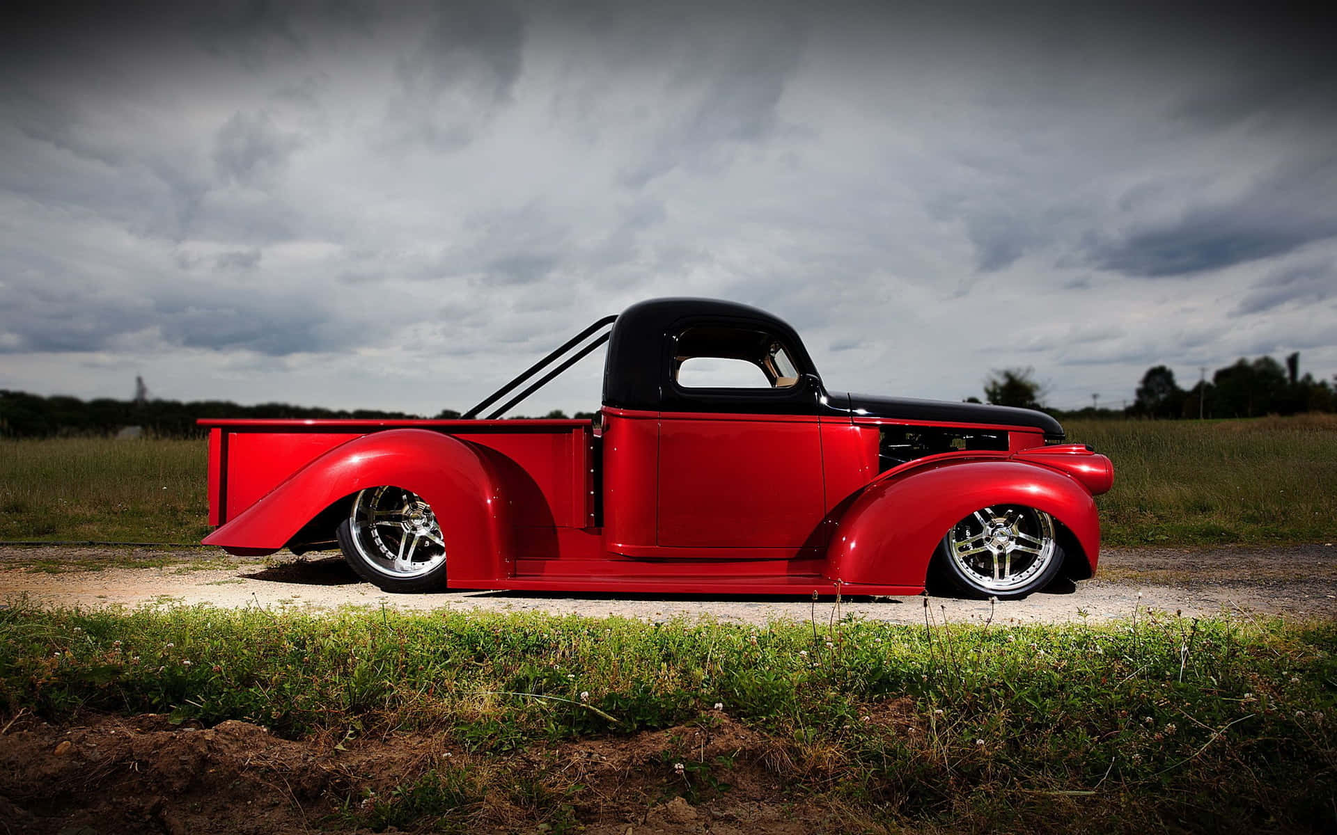
M 278 554 L 275 554 L 278 557 Z M 144 566 L 138 564 L 147 564 Z M 719 620 L 826 619 L 830 601 L 806 599 L 599 596 L 533 592 L 386 595 L 362 582 L 334 554 L 269 562 L 229 560 L 222 552 L 110 548 L 0 546 L 0 600 L 27 595 L 64 605 L 170 605 L 329 609 L 341 605 L 401 609 L 540 611 L 662 620 L 709 615 Z M 935 616 L 953 621 L 991 615 L 985 601 L 933 597 Z M 1257 612 L 1337 617 L 1337 548 L 1322 542 L 1286 548 L 1108 549 L 1095 580 L 1051 588 L 992 611 L 1001 623 L 1062 623 L 1127 617 L 1135 607 L 1186 616 Z M 917 597 L 853 597 L 841 613 L 920 623 Z

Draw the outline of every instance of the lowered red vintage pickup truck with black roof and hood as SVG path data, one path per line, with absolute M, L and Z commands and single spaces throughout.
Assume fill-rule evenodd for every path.
M 604 342 L 594 421 L 496 420 Z M 1095 572 L 1114 481 L 1040 411 L 829 391 L 789 325 L 710 299 L 600 319 L 461 420 L 201 425 L 206 545 L 338 546 L 390 592 L 1020 597 Z

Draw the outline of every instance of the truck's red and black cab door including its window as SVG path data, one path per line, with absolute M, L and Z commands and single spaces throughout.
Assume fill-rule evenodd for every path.
M 659 546 L 820 545 L 816 379 L 753 325 L 690 326 L 671 346 L 659 420 Z

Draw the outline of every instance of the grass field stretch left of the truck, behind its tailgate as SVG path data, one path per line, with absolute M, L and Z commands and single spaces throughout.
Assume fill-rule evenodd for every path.
M 0 540 L 198 542 L 205 441 L 0 441 Z

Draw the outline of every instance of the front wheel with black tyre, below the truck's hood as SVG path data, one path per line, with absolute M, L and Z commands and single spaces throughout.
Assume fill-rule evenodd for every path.
M 1063 568 L 1054 517 L 1024 505 L 995 505 L 967 516 L 943 537 L 948 578 L 977 597 L 1009 600 L 1047 587 Z

